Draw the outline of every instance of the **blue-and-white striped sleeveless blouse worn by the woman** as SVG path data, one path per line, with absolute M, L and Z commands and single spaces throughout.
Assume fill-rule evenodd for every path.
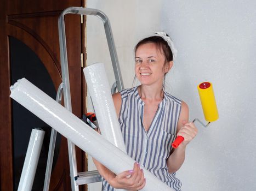
M 144 129 L 144 102 L 138 93 L 138 86 L 124 89 L 121 93 L 122 105 L 119 122 L 128 156 L 149 170 L 174 190 L 180 191 L 181 182 L 175 172 L 168 172 L 166 160 L 176 138 L 181 101 L 164 91 L 164 98 L 149 129 Z M 104 191 L 114 189 L 103 180 Z

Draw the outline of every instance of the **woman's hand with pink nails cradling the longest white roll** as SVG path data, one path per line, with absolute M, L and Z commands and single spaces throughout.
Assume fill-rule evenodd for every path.
M 110 182 L 112 187 L 126 190 L 140 190 L 145 186 L 143 169 L 139 163 L 134 163 L 133 170 L 123 171 Z

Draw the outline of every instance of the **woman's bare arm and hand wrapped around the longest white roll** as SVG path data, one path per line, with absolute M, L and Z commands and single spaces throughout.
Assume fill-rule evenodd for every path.
M 112 98 L 115 105 L 116 114 L 119 115 L 122 104 L 121 94 L 119 92 L 115 93 L 113 94 Z M 94 158 L 93 162 L 100 175 L 114 188 L 140 190 L 145 186 L 144 173 L 143 170 L 140 169 L 138 163 L 134 163 L 132 170 L 123 171 L 121 174 L 115 175 L 111 170 L 107 169 L 103 164 L 99 163 Z

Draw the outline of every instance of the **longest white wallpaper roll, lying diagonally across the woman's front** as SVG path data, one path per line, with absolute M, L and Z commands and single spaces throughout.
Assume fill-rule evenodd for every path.
M 10 91 L 10 97 L 16 102 L 41 118 L 115 174 L 133 169 L 135 160 L 105 140 L 86 123 L 25 78 L 18 80 L 11 86 Z M 144 169 L 144 175 L 147 181 L 142 190 L 173 190 L 146 169 Z

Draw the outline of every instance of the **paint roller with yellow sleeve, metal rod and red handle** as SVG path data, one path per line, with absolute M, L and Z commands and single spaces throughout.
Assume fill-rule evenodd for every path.
M 198 120 L 198 118 L 195 118 L 193 123 L 198 121 L 202 124 L 202 126 L 208 127 L 211 122 L 216 121 L 219 118 L 218 109 L 213 93 L 213 86 L 211 82 L 202 82 L 197 86 L 197 89 L 202 104 L 204 118 L 206 121 L 208 121 L 208 123 L 205 125 L 200 120 Z M 183 140 L 183 136 L 177 136 L 177 138 L 172 143 L 172 147 L 177 148 Z

